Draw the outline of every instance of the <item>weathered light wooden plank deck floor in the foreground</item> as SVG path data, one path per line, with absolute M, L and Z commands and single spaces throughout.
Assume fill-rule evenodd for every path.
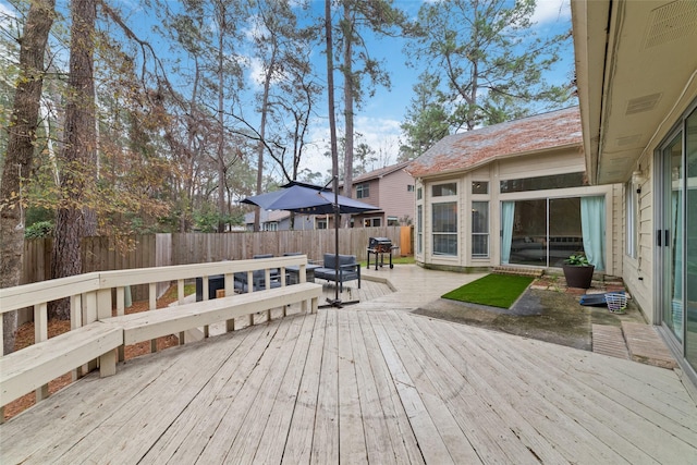
M 0 463 L 695 463 L 674 371 L 404 311 L 479 277 L 430 273 L 90 375 L 0 426 Z

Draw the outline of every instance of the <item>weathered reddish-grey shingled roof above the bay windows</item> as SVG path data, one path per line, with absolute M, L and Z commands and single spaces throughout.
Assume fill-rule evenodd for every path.
M 406 171 L 414 178 L 468 171 L 497 158 L 582 144 L 580 112 L 572 107 L 445 136 Z

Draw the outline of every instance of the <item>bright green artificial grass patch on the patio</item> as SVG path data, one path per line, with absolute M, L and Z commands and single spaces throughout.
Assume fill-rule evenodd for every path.
M 443 298 L 510 308 L 535 278 L 515 274 L 487 274 L 443 294 Z

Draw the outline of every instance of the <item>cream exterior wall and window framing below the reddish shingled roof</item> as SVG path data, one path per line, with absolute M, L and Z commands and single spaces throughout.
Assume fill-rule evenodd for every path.
M 622 272 L 622 185 L 583 186 L 546 191 L 500 193 L 500 181 L 542 175 L 584 172 L 585 162 L 579 147 L 571 147 L 543 154 L 528 154 L 515 158 L 492 161 L 478 169 L 450 176 L 430 176 L 417 180 L 416 188 L 421 189 L 421 199 L 416 206 L 423 211 L 423 249 L 415 252 L 416 260 L 425 266 L 445 269 L 478 269 L 501 264 L 501 203 L 505 200 L 539 199 L 546 197 L 606 197 L 606 270 L 607 274 Z M 433 197 L 432 186 L 442 183 L 455 183 L 456 195 Z M 488 182 L 487 194 L 473 194 L 474 182 Z M 456 201 L 457 204 L 457 254 L 455 256 L 436 255 L 432 250 L 433 204 Z M 473 257 L 472 254 L 472 211 L 473 201 L 489 203 L 489 256 Z M 418 236 L 418 228 L 416 235 Z M 417 240 L 418 241 L 418 240 Z

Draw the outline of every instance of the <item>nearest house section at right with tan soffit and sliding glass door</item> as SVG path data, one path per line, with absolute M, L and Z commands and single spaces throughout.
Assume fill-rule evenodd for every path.
M 585 163 L 624 184 L 619 272 L 697 386 L 697 2 L 571 2 Z

